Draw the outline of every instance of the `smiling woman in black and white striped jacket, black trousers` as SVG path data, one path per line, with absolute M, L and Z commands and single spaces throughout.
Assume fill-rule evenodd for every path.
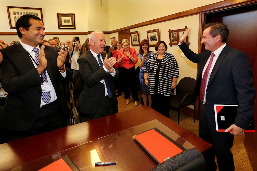
M 157 53 L 152 54 L 146 63 L 144 77 L 151 94 L 152 108 L 169 118 L 170 95 L 179 78 L 179 66 L 175 57 L 166 52 L 167 48 L 164 41 L 156 43 Z

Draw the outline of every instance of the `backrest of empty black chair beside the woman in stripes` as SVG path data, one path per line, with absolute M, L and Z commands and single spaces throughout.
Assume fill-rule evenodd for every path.
M 184 77 L 182 78 L 177 87 L 176 87 L 176 94 L 180 96 L 184 96 L 188 93 L 193 93 L 193 89 L 195 88 L 196 80 L 191 77 Z

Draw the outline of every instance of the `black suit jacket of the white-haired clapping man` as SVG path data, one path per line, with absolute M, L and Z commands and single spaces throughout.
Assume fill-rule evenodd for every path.
M 108 53 L 103 52 L 101 54 L 103 60 L 106 54 Z M 110 54 L 108 54 L 108 58 L 110 57 Z M 108 79 L 112 90 L 113 106 L 117 107 L 118 101 L 115 93 L 114 77 L 119 77 L 119 71 L 116 70 L 114 77 L 108 72 L 106 73 L 103 67 L 100 68 L 90 50 L 79 57 L 78 64 L 80 75 L 84 81 L 80 111 L 86 114 L 100 114 L 104 103 L 104 84 L 99 81 L 105 78 Z

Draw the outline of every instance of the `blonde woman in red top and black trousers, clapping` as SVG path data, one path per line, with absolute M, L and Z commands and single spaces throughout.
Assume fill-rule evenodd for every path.
M 129 87 L 132 92 L 132 97 L 134 99 L 134 106 L 138 105 L 138 93 L 137 93 L 137 84 L 136 84 L 136 68 L 135 64 L 137 63 L 137 53 L 134 48 L 130 47 L 128 39 L 123 39 L 122 47 L 119 51 L 117 63 L 120 65 L 120 78 L 123 83 L 123 92 L 126 98 L 126 104 L 129 104 L 130 92 Z

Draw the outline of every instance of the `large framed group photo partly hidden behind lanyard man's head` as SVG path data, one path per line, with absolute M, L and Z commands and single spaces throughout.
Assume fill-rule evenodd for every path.
M 25 15 L 25 14 L 38 16 L 41 19 L 42 23 L 44 23 L 42 8 L 11 7 L 11 6 L 6 6 L 6 7 L 7 7 L 8 18 L 9 18 L 10 29 L 15 29 L 15 24 L 17 20 L 22 15 Z

